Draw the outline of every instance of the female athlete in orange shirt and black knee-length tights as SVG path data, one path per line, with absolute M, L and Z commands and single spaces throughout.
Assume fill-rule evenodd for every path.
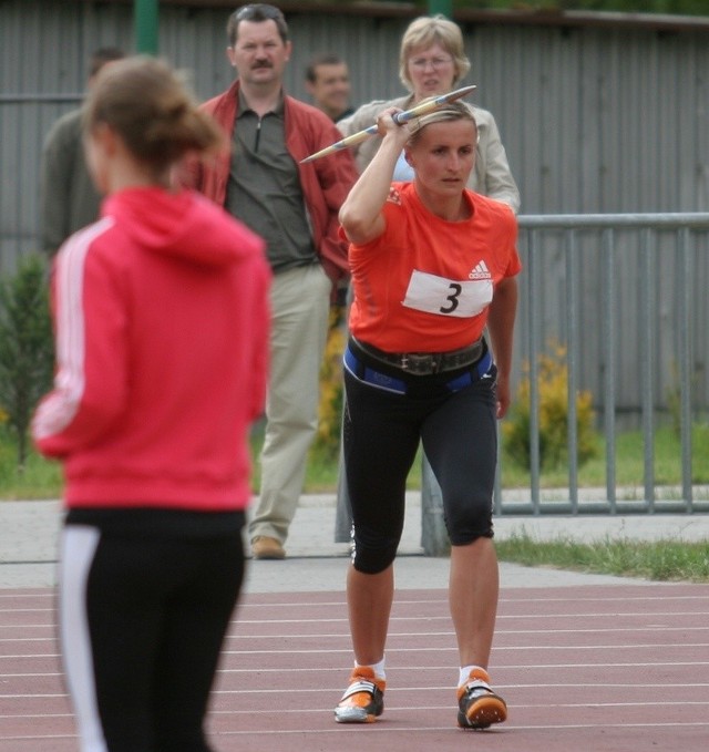
M 379 116 L 381 147 L 340 210 L 353 289 L 343 455 L 354 669 L 335 718 L 371 722 L 383 710 L 393 560 L 405 481 L 422 441 L 452 544 L 458 723 L 481 729 L 507 715 L 490 688 L 487 662 L 499 595 L 495 418 L 510 404 L 516 220 L 507 206 L 465 188 L 477 138 L 469 107 L 448 105 L 404 126 L 394 112 Z M 392 184 L 402 148 L 414 179 Z

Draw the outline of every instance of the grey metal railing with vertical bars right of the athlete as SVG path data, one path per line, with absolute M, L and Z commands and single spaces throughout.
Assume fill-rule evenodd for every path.
M 565 350 L 567 365 L 567 455 L 568 486 L 566 498 L 543 493 L 540 446 L 540 353 L 544 352 L 545 321 L 541 313 L 540 275 L 548 270 L 545 265 L 545 241 L 549 234 L 561 233 L 565 288 L 559 295 L 564 313 Z M 584 316 L 579 288 L 583 281 L 580 256 L 582 234 L 598 247 L 597 310 L 594 320 Z M 670 237 L 667 237 L 667 234 Z M 696 383 L 695 351 L 700 339 L 700 362 L 707 358 L 707 333 L 697 316 L 697 306 L 706 299 L 707 239 L 709 214 L 620 214 L 620 215 L 546 215 L 520 217 L 520 247 L 525 261 L 521 279 L 521 299 L 526 299 L 526 317 L 521 322 L 525 331 L 530 379 L 530 454 L 531 483 L 528 499 L 507 501 L 500 483 L 495 493 L 497 514 L 521 513 L 630 513 L 630 512 L 699 512 L 709 511 L 709 495 L 697 498 L 692 482 L 692 424 L 702 418 L 706 409 L 706 384 L 701 401 L 692 400 Z M 618 300 L 625 295 L 621 286 L 633 280 L 617 274 L 621 254 L 637 256 L 637 338 L 619 320 Z M 699 257 L 701 246 L 702 256 Z M 665 267 L 658 255 L 671 254 L 675 276 L 662 278 Z M 658 330 L 658 309 L 669 305 L 669 336 L 674 341 L 676 359 L 677 415 L 679 424 L 680 456 L 678 484 L 668 486 L 656 482 L 654 437 L 659 416 L 667 413 L 658 394 L 658 379 L 668 363 L 659 359 L 669 357 L 667 348 L 659 347 L 667 332 Z M 597 326 L 592 326 L 596 323 Z M 626 321 L 627 323 L 627 321 Z M 696 326 L 698 323 L 698 326 Z M 696 331 L 698 329 L 699 331 Z M 605 494 L 598 490 L 584 491 L 578 482 L 577 451 L 577 394 L 583 382 L 582 351 L 599 338 L 595 351 L 603 351 L 604 368 L 602 390 L 595 400 L 602 415 L 605 439 Z M 639 385 L 639 412 L 644 446 L 641 487 L 619 487 L 616 483 L 616 431 L 618 424 L 618 394 L 620 392 L 618 352 L 625 351 L 635 362 L 637 373 L 631 374 Z M 701 368 L 703 372 L 703 365 Z M 695 408 L 695 409 L 692 409 Z M 706 418 L 706 415 L 703 415 Z M 641 492 L 638 494 L 638 491 Z M 639 495 L 639 497 L 638 497 Z M 556 496 L 556 499 L 553 497 Z M 605 498 L 603 498 L 605 496 Z

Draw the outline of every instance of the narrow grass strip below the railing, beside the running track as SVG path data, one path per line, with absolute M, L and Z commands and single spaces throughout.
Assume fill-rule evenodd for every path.
M 528 567 L 660 581 L 709 583 L 709 540 L 605 538 L 586 544 L 565 537 L 536 540 L 521 533 L 504 540 L 496 539 L 495 547 L 501 562 Z

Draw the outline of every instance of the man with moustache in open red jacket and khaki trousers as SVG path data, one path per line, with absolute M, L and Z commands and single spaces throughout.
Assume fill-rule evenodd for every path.
M 280 10 L 243 6 L 229 17 L 227 37 L 237 80 L 204 107 L 232 148 L 195 166 L 192 178 L 266 240 L 274 271 L 260 499 L 249 537 L 255 558 L 280 559 L 317 429 L 329 303 L 348 275 L 338 210 L 357 171 L 347 151 L 300 164 L 340 134 L 322 112 L 284 92 L 292 44 Z

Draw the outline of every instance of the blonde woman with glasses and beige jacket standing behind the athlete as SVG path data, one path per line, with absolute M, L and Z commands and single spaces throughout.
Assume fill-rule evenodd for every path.
M 421 17 L 409 24 L 401 40 L 399 76 L 409 94 L 394 100 L 377 100 L 363 104 L 337 126 L 348 136 L 369 127 L 387 107 L 409 110 L 422 100 L 456 89 L 470 71 L 460 27 L 441 14 Z M 490 198 L 507 204 L 513 212 L 520 209 L 520 190 L 512 176 L 505 148 L 500 138 L 493 115 L 482 107 L 472 106 L 480 140 L 475 150 L 475 168 L 467 187 Z M 356 152 L 357 167 L 363 172 L 381 145 L 381 137 L 369 138 Z M 403 155 L 399 157 L 393 178 L 410 181 L 411 167 Z

